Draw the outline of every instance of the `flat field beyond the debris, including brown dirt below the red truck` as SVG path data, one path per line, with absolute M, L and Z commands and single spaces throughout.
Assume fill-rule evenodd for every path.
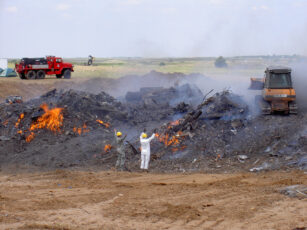
M 21 95 L 25 99 L 39 96 L 42 93 L 70 83 L 81 83 L 93 78 L 120 78 L 126 75 L 144 75 L 150 71 L 163 73 L 201 73 L 215 79 L 238 80 L 253 76 L 261 77 L 266 66 L 279 64 L 289 65 L 296 59 L 293 57 L 233 57 L 227 58 L 228 68 L 216 68 L 215 58 L 96 58 L 93 66 L 87 66 L 86 58 L 71 58 L 64 61 L 74 64 L 72 79 L 56 79 L 47 76 L 44 80 L 21 80 L 0 78 L 0 98 L 7 95 Z M 9 61 L 14 68 L 14 60 Z

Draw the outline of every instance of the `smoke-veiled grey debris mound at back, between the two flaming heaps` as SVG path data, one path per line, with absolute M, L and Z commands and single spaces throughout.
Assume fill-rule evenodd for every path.
M 202 92 L 195 86 L 185 84 L 177 87 L 146 87 L 139 92 L 128 92 L 125 100 L 129 119 L 138 123 L 161 121 L 182 114 L 200 103 Z

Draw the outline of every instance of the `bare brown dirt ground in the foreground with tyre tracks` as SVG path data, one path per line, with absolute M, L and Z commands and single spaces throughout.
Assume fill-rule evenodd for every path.
M 279 193 L 303 172 L 0 174 L 1 229 L 295 229 L 307 202 Z

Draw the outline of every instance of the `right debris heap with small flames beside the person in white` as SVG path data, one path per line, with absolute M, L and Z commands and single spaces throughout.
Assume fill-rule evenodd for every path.
M 235 128 L 243 128 L 243 122 L 247 122 L 247 114 L 248 108 L 240 97 L 229 91 L 216 93 L 204 99 L 196 109 L 189 108 L 181 119 L 164 124 L 156 131 L 159 148 L 164 145 L 164 151 L 156 157 L 165 157 L 165 153 L 170 152 L 178 152 L 180 157 L 187 155 L 189 158 L 195 153 L 216 154 L 221 157 L 226 152 L 229 141 L 222 141 L 220 137 L 226 139 L 226 136 L 234 135 Z M 233 124 L 240 125 L 233 127 Z M 170 157 L 173 158 L 174 155 Z

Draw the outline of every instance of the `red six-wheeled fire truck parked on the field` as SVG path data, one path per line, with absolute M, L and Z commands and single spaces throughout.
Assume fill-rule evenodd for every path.
M 55 74 L 57 78 L 71 77 L 74 71 L 71 63 L 63 62 L 60 57 L 47 56 L 46 58 L 22 58 L 15 64 L 15 71 L 21 79 L 44 79 L 46 75 Z

